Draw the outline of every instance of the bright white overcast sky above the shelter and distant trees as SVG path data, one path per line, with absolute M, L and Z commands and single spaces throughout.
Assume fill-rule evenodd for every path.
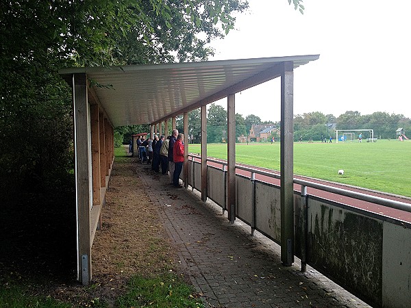
M 294 70 L 294 114 L 388 112 L 411 118 L 411 1 L 249 0 L 210 60 L 320 54 Z M 221 101 L 227 107 L 227 100 Z M 236 94 L 236 113 L 279 120 L 279 78 Z

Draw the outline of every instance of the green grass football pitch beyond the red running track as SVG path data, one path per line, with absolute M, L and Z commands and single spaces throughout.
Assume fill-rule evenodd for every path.
M 201 152 L 200 144 L 188 149 Z M 207 154 L 227 159 L 227 144 L 208 144 Z M 279 170 L 279 142 L 236 144 L 236 162 Z M 295 143 L 294 173 L 411 196 L 411 141 Z

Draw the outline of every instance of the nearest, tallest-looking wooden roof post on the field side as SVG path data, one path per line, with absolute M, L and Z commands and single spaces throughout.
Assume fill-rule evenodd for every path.
M 281 75 L 281 261 L 284 266 L 294 262 L 294 192 L 293 192 L 293 63 L 284 62 Z

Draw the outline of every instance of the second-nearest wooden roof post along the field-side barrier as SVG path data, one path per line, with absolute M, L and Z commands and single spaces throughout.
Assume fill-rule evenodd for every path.
M 228 220 L 236 220 L 236 96 L 227 97 L 227 205 Z

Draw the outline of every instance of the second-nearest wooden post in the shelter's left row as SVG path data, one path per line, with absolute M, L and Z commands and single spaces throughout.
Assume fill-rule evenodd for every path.
M 92 204 L 101 204 L 100 176 L 100 124 L 99 105 L 90 105 L 91 113 L 91 159 L 92 159 Z

